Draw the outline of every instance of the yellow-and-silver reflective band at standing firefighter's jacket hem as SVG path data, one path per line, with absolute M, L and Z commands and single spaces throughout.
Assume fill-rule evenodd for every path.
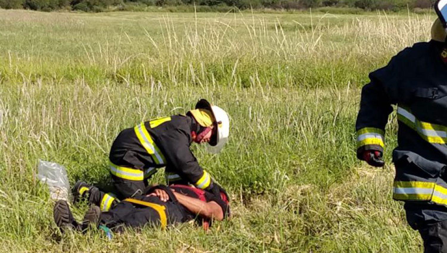
M 431 201 L 447 205 L 447 188 L 437 185 L 435 182 L 395 181 L 393 199 Z

